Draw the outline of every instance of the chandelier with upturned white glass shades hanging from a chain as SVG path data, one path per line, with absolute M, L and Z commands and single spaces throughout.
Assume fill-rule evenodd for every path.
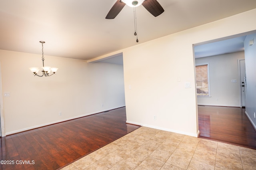
M 44 67 L 44 41 L 40 41 L 40 43 L 42 43 L 42 61 L 43 61 L 43 67 L 42 67 L 42 73 L 43 75 L 38 75 L 38 71 L 39 71 L 39 68 L 38 67 L 30 67 L 30 71 L 32 71 L 32 73 L 34 73 L 34 76 L 38 76 L 38 77 L 47 77 L 47 76 L 51 76 L 53 74 L 56 73 L 56 71 L 58 70 L 58 68 L 54 68 L 54 67 Z M 52 71 L 52 74 L 50 75 L 50 72 Z

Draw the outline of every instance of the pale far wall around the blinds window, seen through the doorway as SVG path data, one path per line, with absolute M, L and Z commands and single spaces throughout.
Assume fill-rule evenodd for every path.
M 209 64 L 210 77 L 210 97 L 198 97 L 198 105 L 240 107 L 238 59 L 244 59 L 244 51 L 195 59 L 196 65 Z

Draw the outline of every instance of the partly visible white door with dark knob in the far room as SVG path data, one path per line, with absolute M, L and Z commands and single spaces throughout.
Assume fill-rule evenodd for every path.
M 240 62 L 240 85 L 241 85 L 242 107 L 245 107 L 245 99 L 246 99 L 245 60 L 242 59 L 239 62 Z

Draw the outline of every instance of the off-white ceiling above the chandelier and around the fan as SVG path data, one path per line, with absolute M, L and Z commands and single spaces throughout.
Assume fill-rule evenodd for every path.
M 116 0 L 0 0 L 0 49 L 89 60 L 136 45 L 133 8 L 105 19 Z M 256 8 L 256 0 L 158 0 L 136 8 L 139 43 Z

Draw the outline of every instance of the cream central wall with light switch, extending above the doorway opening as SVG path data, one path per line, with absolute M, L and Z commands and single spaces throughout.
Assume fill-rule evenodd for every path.
M 197 136 L 192 45 L 256 30 L 252 16 L 256 9 L 124 49 L 127 122 Z

